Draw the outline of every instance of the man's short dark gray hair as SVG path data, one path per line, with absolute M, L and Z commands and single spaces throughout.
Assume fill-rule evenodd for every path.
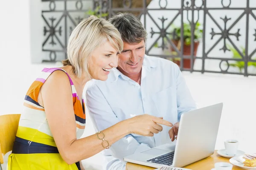
M 147 31 L 140 20 L 131 13 L 118 13 L 108 19 L 120 32 L 122 40 L 128 44 L 146 41 Z

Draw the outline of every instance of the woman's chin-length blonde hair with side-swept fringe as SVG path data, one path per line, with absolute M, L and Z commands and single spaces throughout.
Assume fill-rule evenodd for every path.
M 90 16 L 76 26 L 70 34 L 67 44 L 67 59 L 63 65 L 71 65 L 73 73 L 80 77 L 82 73 L 91 77 L 88 61 L 92 52 L 100 45 L 109 41 L 121 53 L 123 42 L 119 31 L 104 18 Z

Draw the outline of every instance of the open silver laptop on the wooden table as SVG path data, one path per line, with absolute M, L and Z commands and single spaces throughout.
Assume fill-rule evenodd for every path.
M 183 167 L 211 156 L 215 150 L 222 107 L 223 103 L 218 103 L 183 113 L 176 144 L 167 143 L 134 153 L 125 156 L 124 161 L 155 168 Z

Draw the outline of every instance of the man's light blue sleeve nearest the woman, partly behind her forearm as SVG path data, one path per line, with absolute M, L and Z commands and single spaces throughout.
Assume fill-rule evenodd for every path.
M 116 117 L 111 106 L 105 99 L 105 96 L 96 85 L 87 89 L 86 104 L 91 120 L 93 121 L 93 125 L 98 131 L 104 130 L 121 121 Z M 120 167 L 125 167 L 126 164 L 126 162 L 123 161 L 124 156 L 147 149 L 150 149 L 148 145 L 140 144 L 131 135 L 127 135 L 112 144 L 110 149 L 104 150 L 103 154 L 107 161 L 104 166 L 106 170 L 120 170 Z

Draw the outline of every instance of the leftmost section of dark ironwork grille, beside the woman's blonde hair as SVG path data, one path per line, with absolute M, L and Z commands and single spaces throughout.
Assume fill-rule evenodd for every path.
M 98 6 L 108 10 L 106 0 L 41 0 L 43 4 L 49 4 L 47 10 L 42 10 L 44 20 L 44 42 L 42 51 L 49 54 L 43 62 L 56 62 L 67 58 L 67 40 L 73 28 L 89 14 L 89 10 L 95 10 Z M 90 4 L 93 3 L 93 6 Z M 72 4 L 72 9 L 69 9 Z M 89 4 L 89 5 L 88 5 Z M 58 8 L 57 8 L 58 7 Z M 60 9 L 62 8 L 62 9 Z

